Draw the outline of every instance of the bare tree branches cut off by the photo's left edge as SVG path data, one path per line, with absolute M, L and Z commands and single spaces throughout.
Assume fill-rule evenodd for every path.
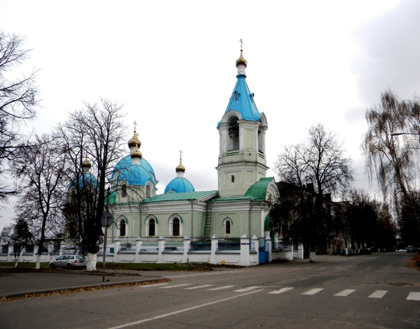
M 16 149 L 28 146 L 19 127 L 37 112 L 35 73 L 18 76 L 15 68 L 28 58 L 29 50 L 22 50 L 23 39 L 0 31 L 0 173 L 6 160 L 16 156 Z M 1 175 L 0 174 L 0 175 Z M 0 177 L 0 201 L 16 194 L 16 188 Z

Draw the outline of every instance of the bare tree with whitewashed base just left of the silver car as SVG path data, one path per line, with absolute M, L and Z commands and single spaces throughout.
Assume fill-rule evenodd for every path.
M 62 205 L 67 187 L 67 153 L 49 135 L 37 137 L 36 146 L 20 149 L 13 163 L 15 177 L 22 182 L 23 193 L 15 207 L 16 218 L 24 219 L 38 247 L 36 268 L 44 242 L 64 232 Z

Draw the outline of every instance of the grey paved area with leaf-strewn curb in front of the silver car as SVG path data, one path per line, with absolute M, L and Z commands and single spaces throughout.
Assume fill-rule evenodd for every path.
M 113 275 L 107 275 L 107 273 Z M 89 274 L 81 271 L 13 273 L 0 275 L 0 298 L 19 297 L 26 294 L 48 293 L 66 289 L 151 282 L 163 279 L 164 277 L 160 276 L 160 274 L 144 271 L 129 275 L 127 272 L 121 272 L 120 274 L 118 271 L 107 271 L 103 282 L 102 274 Z

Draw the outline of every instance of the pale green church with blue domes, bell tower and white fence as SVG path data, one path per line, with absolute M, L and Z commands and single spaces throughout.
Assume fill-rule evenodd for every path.
M 268 249 L 271 239 L 266 205 L 279 196 L 279 190 L 274 178 L 266 177 L 267 119 L 258 112 L 248 88 L 242 47 L 236 68 L 236 85 L 216 123 L 217 190 L 195 190 L 186 178 L 180 152 L 176 177 L 163 194 L 157 194 L 157 176 L 142 156 L 134 128 L 129 153 L 117 163 L 109 180 L 112 193 L 108 208 L 114 224 L 107 231 L 107 261 L 245 265 L 268 261 L 268 256 L 258 259 L 253 254 Z M 245 256 L 238 256 L 243 251 Z

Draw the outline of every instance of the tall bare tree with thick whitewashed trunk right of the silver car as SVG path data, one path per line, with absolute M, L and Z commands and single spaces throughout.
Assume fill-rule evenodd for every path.
M 84 110 L 73 112 L 58 127 L 60 143 L 71 165 L 64 213 L 71 237 L 87 255 L 87 270 L 96 270 L 107 178 L 124 152 L 126 126 L 121 109 L 122 106 L 106 99 L 101 99 L 101 107 L 85 103 Z

